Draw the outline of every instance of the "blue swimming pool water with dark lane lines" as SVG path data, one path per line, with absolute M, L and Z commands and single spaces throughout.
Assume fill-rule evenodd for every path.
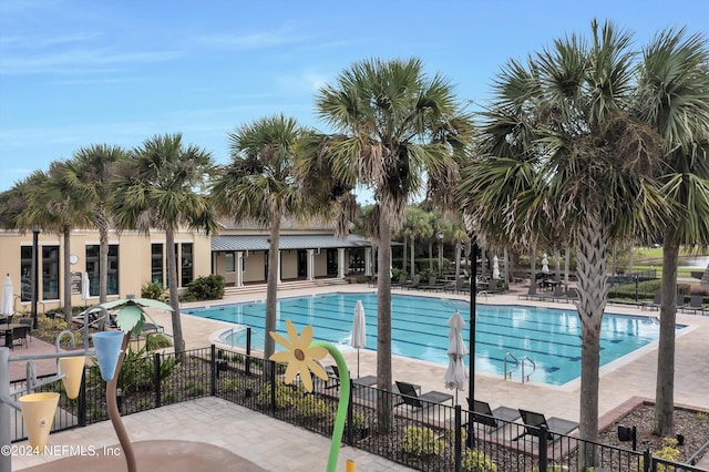
M 377 295 L 329 294 L 278 300 L 277 331 L 286 331 L 290 319 L 298 332 L 312 325 L 314 338 L 347 345 L 350 339 L 354 304 L 362 300 L 367 317 L 366 349 L 377 349 Z M 392 353 L 414 359 L 448 363 L 448 319 L 458 310 L 466 325 L 469 343 L 469 304 L 436 297 L 392 295 Z M 183 314 L 217 319 L 251 327 L 251 345 L 260 349 L 264 342 L 266 304 L 245 302 L 210 308 L 185 309 Z M 475 370 L 503 374 L 507 352 L 517 359 L 530 358 L 536 370 L 532 381 L 564 384 L 580 376 L 580 320 L 575 309 L 526 306 L 477 305 Z M 679 328 L 679 327 L 678 327 Z M 245 345 L 245 335 L 234 335 L 225 342 Z M 633 352 L 659 337 L 654 318 L 604 315 L 600 340 L 600 365 L 604 366 Z M 467 366 L 469 356 L 465 357 Z M 526 368 L 528 372 L 528 367 Z M 520 373 L 515 374 L 515 378 Z

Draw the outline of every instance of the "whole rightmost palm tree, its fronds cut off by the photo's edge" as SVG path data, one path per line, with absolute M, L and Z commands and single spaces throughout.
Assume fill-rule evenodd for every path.
M 675 324 L 680 246 L 709 245 L 709 49 L 686 29 L 658 33 L 643 53 L 638 114 L 659 134 L 662 192 L 684 208 L 660 220 L 662 285 L 654 432 L 674 434 Z

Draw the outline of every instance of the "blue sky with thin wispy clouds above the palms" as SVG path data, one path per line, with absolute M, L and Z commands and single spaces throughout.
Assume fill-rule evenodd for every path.
M 420 58 L 484 103 L 508 59 L 593 18 L 709 35 L 709 0 L 0 0 L 0 192 L 82 146 L 164 133 L 228 162 L 227 133 L 284 113 L 327 131 L 319 86 L 369 58 Z

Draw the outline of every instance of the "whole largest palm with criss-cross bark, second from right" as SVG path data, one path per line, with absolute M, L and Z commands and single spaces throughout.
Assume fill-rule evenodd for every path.
M 460 187 L 483 235 L 534 240 L 551 227 L 575 240 L 582 321 L 580 435 L 598 438 L 600 321 L 608 244 L 649 230 L 665 206 L 650 171 L 657 135 L 631 114 L 636 66 L 631 35 L 592 22 L 576 35 L 511 61 L 483 114 L 480 156 Z M 593 451 L 582 451 L 586 465 Z

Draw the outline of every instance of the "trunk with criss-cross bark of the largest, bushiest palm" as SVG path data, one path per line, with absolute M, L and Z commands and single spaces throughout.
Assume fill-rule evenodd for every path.
M 582 321 L 580 438 L 598 442 L 598 366 L 600 321 L 606 306 L 608 237 L 599 212 L 588 212 L 577 234 L 578 315 Z M 586 444 L 586 443 L 585 443 Z M 579 453 L 584 468 L 595 465 L 594 448 Z M 585 470 L 585 469 L 579 469 Z

